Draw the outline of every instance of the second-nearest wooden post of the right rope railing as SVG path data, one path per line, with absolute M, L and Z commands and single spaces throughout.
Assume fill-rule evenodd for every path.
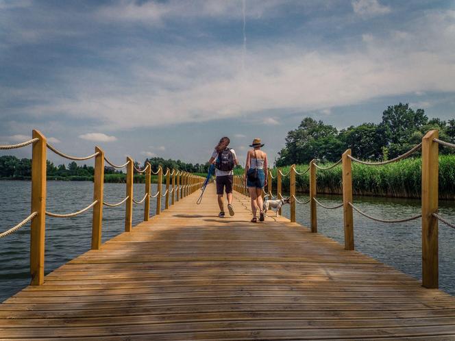
M 352 215 L 352 162 L 348 155 L 351 149 L 347 149 L 341 157 L 343 163 L 343 221 L 345 231 L 345 250 L 354 250 L 354 217 Z

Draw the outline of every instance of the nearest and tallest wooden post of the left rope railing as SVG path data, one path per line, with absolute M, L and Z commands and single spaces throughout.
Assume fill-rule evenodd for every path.
M 33 131 L 32 138 L 39 138 L 32 147 L 32 213 L 38 212 L 38 215 L 30 228 L 30 285 L 40 286 L 45 281 L 47 140 L 37 130 Z

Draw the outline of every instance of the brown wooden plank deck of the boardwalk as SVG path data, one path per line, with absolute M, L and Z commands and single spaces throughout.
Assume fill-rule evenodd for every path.
M 455 340 L 455 298 L 214 186 L 0 305 L 0 339 Z

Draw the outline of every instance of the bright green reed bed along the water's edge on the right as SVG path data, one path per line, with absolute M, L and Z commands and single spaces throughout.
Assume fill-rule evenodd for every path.
M 330 166 L 321 164 L 320 166 Z M 307 165 L 296 166 L 297 172 L 302 173 Z M 384 197 L 421 197 L 421 158 L 409 158 L 384 166 L 367 166 L 352 163 L 352 187 L 356 195 L 372 195 Z M 289 166 L 283 167 L 282 173 L 289 171 Z M 272 170 L 276 177 L 276 169 Z M 309 173 L 296 175 L 296 191 L 309 192 Z M 276 190 L 276 178 L 273 188 Z M 282 179 L 282 189 L 289 191 L 288 177 Z M 330 170 L 317 170 L 317 192 L 325 194 L 342 194 L 341 165 Z M 455 155 L 439 157 L 439 198 L 455 199 Z

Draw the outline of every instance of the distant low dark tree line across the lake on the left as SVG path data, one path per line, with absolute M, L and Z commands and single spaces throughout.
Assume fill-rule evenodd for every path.
M 180 160 L 164 160 L 162 157 L 153 157 L 146 159 L 141 165 L 135 162 L 134 166 L 141 169 L 149 162 L 151 169 L 156 172 L 159 166 L 164 170 L 166 168 L 175 168 L 184 170 L 189 173 L 207 173 L 208 164 L 191 164 Z M 116 170 L 114 167 L 105 166 L 105 174 L 123 174 L 123 170 Z M 93 166 L 79 166 L 76 162 L 70 162 L 68 165 L 59 164 L 56 166 L 53 162 L 47 161 L 47 177 L 50 179 L 73 179 L 73 180 L 90 180 L 93 179 L 95 168 Z M 19 159 L 14 155 L 0 156 L 0 178 L 12 179 L 29 179 L 32 177 L 32 160 L 28 158 Z

